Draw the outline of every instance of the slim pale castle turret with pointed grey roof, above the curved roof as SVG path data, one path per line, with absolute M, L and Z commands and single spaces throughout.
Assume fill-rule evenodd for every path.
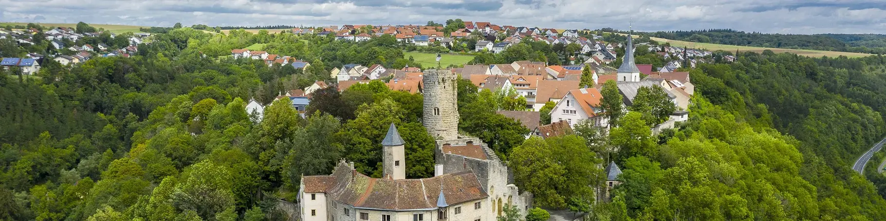
M 397 126 L 388 128 L 385 140 L 382 140 L 382 167 L 386 179 L 406 179 L 406 141 L 400 138 Z

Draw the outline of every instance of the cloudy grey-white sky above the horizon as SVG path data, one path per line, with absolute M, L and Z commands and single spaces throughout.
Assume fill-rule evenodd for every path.
M 886 34 L 886 0 L 0 0 L 0 22 L 185 26 L 424 25 L 644 32 L 732 28 L 780 34 Z

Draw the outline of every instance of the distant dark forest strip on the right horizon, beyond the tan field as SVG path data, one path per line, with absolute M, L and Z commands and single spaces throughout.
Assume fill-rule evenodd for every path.
M 870 54 L 886 53 L 884 34 L 762 34 L 732 29 L 646 33 L 649 36 L 687 42 L 797 50 L 835 50 Z

